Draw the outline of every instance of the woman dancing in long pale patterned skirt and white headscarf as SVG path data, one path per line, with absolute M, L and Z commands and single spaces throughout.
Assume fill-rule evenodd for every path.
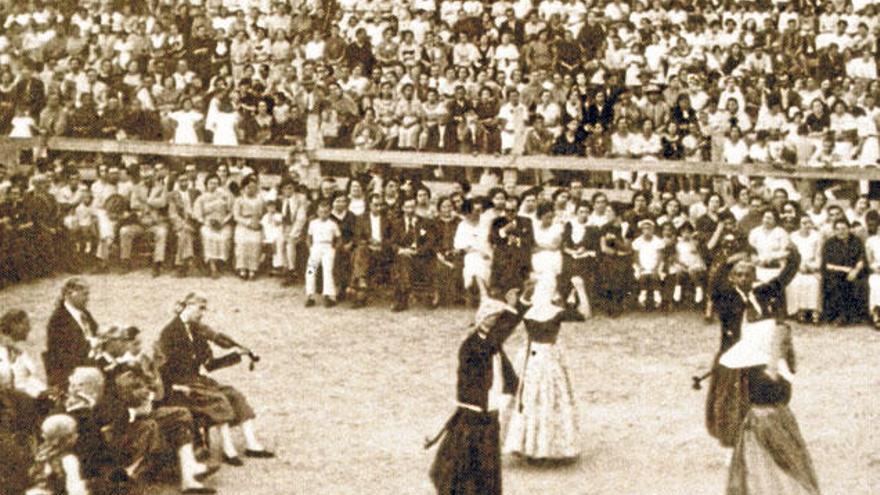
M 538 280 L 533 305 L 524 316 L 528 343 L 516 361 L 520 388 L 503 448 L 504 453 L 532 460 L 565 460 L 580 454 L 571 380 L 557 343 L 569 312 L 552 302 L 555 295 L 555 278 Z

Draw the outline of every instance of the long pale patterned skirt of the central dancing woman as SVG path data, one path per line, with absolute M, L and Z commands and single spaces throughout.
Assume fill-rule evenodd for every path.
M 533 342 L 524 370 L 525 357 L 523 349 L 517 359 L 523 382 L 511 406 L 504 453 L 532 459 L 577 457 L 577 412 L 562 349 Z

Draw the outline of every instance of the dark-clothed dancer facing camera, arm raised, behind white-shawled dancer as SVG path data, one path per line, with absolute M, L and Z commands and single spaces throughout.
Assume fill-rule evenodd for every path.
M 721 320 L 721 348 L 706 395 L 706 428 L 724 447 L 735 445 L 748 411 L 748 377 L 741 369 L 717 366 L 718 358 L 739 341 L 743 329 L 778 315 L 799 266 L 798 250 L 789 245 L 782 271 L 765 283 L 755 285 L 755 265 L 745 253 L 730 257 L 715 277 L 712 301 Z

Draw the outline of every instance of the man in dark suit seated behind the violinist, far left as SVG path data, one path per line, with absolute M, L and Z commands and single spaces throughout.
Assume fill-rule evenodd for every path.
M 90 356 L 98 324 L 86 309 L 89 287 L 80 278 L 71 278 L 61 288 L 61 297 L 46 328 L 44 365 L 50 387 L 65 389 L 67 378 L 78 366 L 92 366 Z

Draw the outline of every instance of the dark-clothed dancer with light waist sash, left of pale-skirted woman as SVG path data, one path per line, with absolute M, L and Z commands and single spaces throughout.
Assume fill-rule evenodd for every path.
M 507 293 L 507 304 L 483 297 L 474 331 L 458 350 L 457 408 L 439 436 L 443 441 L 431 466 L 439 495 L 499 495 L 501 448 L 498 411 L 517 389 L 513 366 L 503 344 L 521 320 L 519 291 Z

